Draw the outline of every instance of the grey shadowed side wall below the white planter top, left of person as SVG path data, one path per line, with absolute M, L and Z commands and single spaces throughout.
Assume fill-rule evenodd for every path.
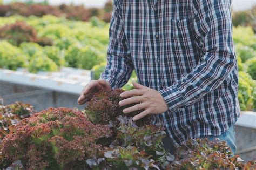
M 21 101 L 30 103 L 36 111 L 41 111 L 48 107 L 76 107 L 79 109 L 85 107 L 77 104 L 79 94 L 56 92 L 3 81 L 0 81 L 0 89 L 0 97 L 3 98 L 4 105 Z

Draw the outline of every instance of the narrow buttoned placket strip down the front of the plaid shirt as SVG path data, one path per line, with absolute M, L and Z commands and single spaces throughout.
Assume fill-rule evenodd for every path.
M 160 58 L 160 32 L 159 32 L 159 13 L 158 13 L 158 0 L 153 0 L 154 1 L 154 5 L 153 5 L 153 8 L 152 8 L 152 11 L 153 11 L 153 21 L 154 21 L 154 55 L 155 55 L 155 58 L 156 58 L 156 65 L 157 65 L 157 73 L 158 73 L 158 76 L 157 76 L 157 89 L 158 90 L 161 90 L 163 89 L 163 84 L 161 82 L 161 58 Z

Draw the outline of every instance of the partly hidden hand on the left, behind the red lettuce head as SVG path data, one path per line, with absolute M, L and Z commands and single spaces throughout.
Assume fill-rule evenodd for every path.
M 111 89 L 109 82 L 105 80 L 92 80 L 89 84 L 87 84 L 84 87 L 84 90 L 81 92 L 80 97 L 77 100 L 77 103 L 79 105 L 84 104 L 86 101 L 89 101 L 95 93 L 104 89 Z

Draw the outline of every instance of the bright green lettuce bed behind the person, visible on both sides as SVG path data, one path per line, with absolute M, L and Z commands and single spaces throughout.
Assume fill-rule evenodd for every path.
M 95 79 L 105 69 L 109 24 L 92 17 L 89 22 L 43 17 L 0 18 L 0 67 L 16 70 L 57 71 L 60 67 L 93 69 Z M 252 28 L 233 30 L 239 67 L 241 110 L 256 110 L 256 36 Z M 136 81 L 136 74 L 131 80 Z M 132 88 L 131 80 L 125 90 Z

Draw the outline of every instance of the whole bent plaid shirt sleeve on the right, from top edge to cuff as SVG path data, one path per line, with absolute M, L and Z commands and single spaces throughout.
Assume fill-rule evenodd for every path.
M 193 1 L 195 38 L 201 50 L 200 62 L 172 86 L 159 92 L 171 112 L 196 103 L 217 89 L 235 67 L 231 2 Z

